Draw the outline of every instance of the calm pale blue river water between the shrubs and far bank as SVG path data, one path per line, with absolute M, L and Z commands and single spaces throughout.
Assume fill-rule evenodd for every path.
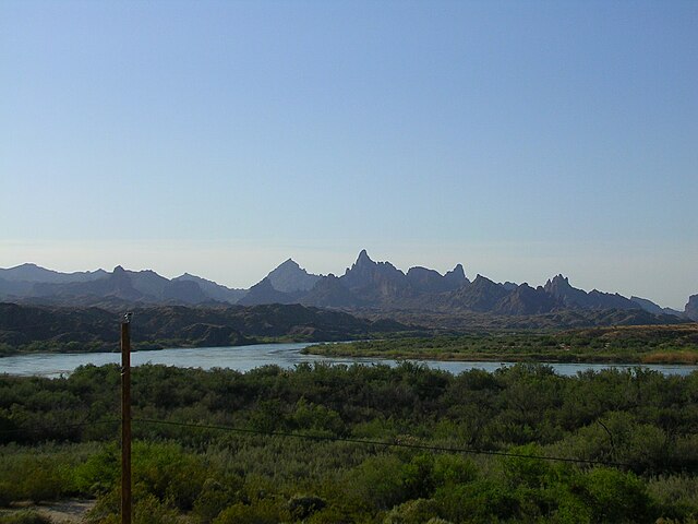
M 136 352 L 131 355 L 132 366 L 143 364 L 164 364 L 179 368 L 230 368 L 238 371 L 249 371 L 260 366 L 277 365 L 284 368 L 292 368 L 301 362 L 330 362 L 330 364 L 387 364 L 395 366 L 396 360 L 376 358 L 349 358 L 349 357 L 320 357 L 315 355 L 301 355 L 301 349 L 310 344 L 261 344 L 254 346 L 237 347 L 196 347 L 191 349 L 160 349 L 156 352 Z M 32 354 L 0 358 L 0 373 L 20 376 L 60 377 L 70 374 L 79 366 L 94 364 L 118 364 L 118 353 L 81 353 L 81 354 Z M 504 362 L 444 362 L 438 360 L 417 360 L 431 368 L 443 369 L 452 373 L 459 373 L 469 369 L 484 369 L 494 371 L 502 366 L 510 366 Z M 588 369 L 606 368 L 633 368 L 626 365 L 603 364 L 552 364 L 559 374 L 574 376 L 578 371 Z M 698 370 L 698 366 L 671 366 L 651 365 L 642 366 L 647 369 L 661 371 L 665 374 L 689 374 Z

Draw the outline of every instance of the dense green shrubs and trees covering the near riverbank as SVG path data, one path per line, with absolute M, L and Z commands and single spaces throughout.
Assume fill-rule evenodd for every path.
M 119 380 L 0 378 L 0 503 L 92 496 L 118 522 Z M 143 366 L 133 406 L 136 522 L 698 516 L 696 372 Z

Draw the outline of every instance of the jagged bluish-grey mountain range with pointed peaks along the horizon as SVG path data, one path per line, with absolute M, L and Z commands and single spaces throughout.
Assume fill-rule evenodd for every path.
M 121 266 L 110 273 L 104 270 L 59 273 L 23 264 L 0 269 L 0 300 L 107 309 L 154 305 L 299 303 L 346 311 L 497 315 L 622 310 L 649 313 L 658 322 L 698 321 L 698 295 L 689 298 L 684 311 L 676 311 L 640 297 L 627 298 L 597 289 L 585 291 L 573 287 L 563 275 L 549 279 L 544 286 L 531 287 L 526 283 L 495 283 L 482 275 L 470 281 L 461 264 L 443 275 L 419 266 L 405 273 L 389 262 L 373 261 L 365 250 L 340 276 L 313 275 L 288 259 L 250 289 L 229 288 L 188 273 L 168 279 L 151 270 L 134 272 Z

